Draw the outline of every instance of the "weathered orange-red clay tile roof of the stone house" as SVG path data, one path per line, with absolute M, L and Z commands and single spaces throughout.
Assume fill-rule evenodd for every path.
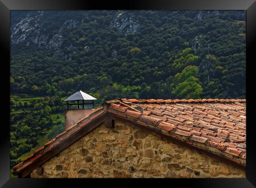
M 135 104 L 138 104 L 143 111 L 136 109 Z M 14 172 L 21 172 L 29 166 L 33 166 L 33 162 L 40 160 L 53 148 L 58 148 L 59 144 L 85 126 L 92 126 L 90 122 L 95 121 L 104 113 L 134 122 L 137 125 L 246 166 L 245 99 L 137 100 L 118 98 L 104 102 L 103 108 L 93 111 L 88 117 L 81 119 L 55 139 L 47 142 L 43 147 L 14 166 Z M 104 118 L 107 119 L 108 116 Z M 100 125 L 100 122 L 97 126 Z M 87 133 L 84 132 L 83 134 Z

